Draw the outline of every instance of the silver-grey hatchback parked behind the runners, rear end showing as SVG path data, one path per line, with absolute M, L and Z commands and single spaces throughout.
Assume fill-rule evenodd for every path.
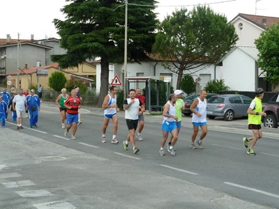
M 225 121 L 232 121 L 235 117 L 248 116 L 247 110 L 251 101 L 252 99 L 245 95 L 216 95 L 207 102 L 206 115 L 209 119 L 221 116 Z

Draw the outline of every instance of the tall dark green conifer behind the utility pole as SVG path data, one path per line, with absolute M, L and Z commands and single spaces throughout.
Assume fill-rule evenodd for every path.
M 61 68 L 77 66 L 86 59 L 100 57 L 100 106 L 109 86 L 109 63 L 123 63 L 125 44 L 124 0 L 67 0 L 72 3 L 61 11 L 66 20 L 54 20 L 61 36 L 61 47 L 67 54 L 54 55 Z M 156 8 L 154 0 L 129 0 L 128 5 L 128 60 L 149 59 L 155 41 Z

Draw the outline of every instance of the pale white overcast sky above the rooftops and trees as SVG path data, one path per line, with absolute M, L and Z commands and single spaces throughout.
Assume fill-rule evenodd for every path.
M 232 20 L 239 13 L 250 15 L 264 15 L 279 17 L 278 0 L 157 0 L 155 12 L 158 19 L 164 20 L 167 15 L 181 7 L 188 10 L 193 5 L 209 5 L 216 13 L 223 14 L 227 20 Z M 129 2 L 129 0 L 128 0 Z M 256 10 L 257 2 L 257 10 Z M 64 20 L 64 15 L 60 9 L 65 6 L 65 0 L 8 0 L 1 1 L 1 23 L 0 38 L 6 38 L 10 34 L 11 38 L 30 39 L 31 34 L 34 39 L 59 38 L 52 21 L 54 19 Z

